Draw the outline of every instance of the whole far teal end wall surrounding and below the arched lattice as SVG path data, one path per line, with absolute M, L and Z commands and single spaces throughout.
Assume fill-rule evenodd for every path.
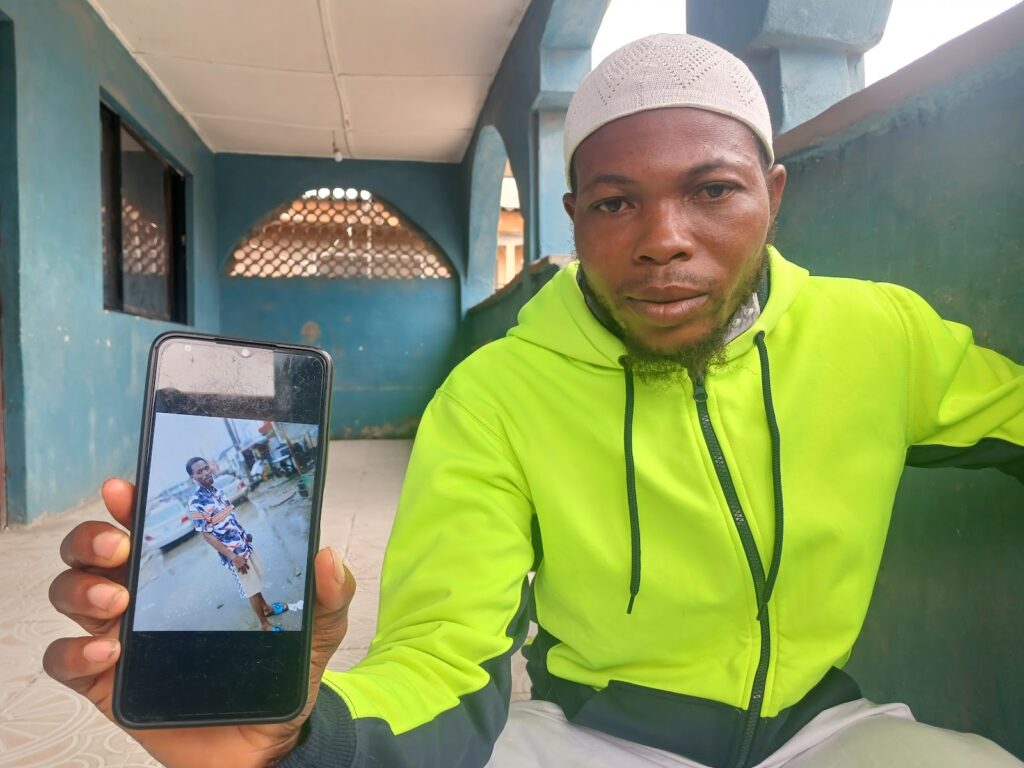
M 307 189 L 369 189 L 419 226 L 466 270 L 459 167 L 218 155 L 222 263 L 249 229 Z M 447 280 L 219 278 L 225 334 L 314 343 L 335 361 L 331 434 L 407 437 L 454 362 L 458 276 Z M 305 329 L 305 333 L 303 333 Z

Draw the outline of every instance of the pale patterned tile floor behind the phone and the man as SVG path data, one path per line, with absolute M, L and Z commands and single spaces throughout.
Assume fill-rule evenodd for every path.
M 366 653 L 377 621 L 380 566 L 411 442 L 352 440 L 331 444 L 321 541 L 344 553 L 358 581 L 348 636 L 332 667 Z M 91 705 L 47 677 L 43 649 L 80 634 L 53 611 L 47 588 L 63 569 L 57 546 L 80 520 L 105 517 L 98 502 L 27 528 L 0 534 L 0 766 L 128 768 L 158 766 Z M 517 657 L 513 696 L 527 683 Z

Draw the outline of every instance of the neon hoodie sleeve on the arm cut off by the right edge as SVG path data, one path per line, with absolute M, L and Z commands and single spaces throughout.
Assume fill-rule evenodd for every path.
M 1024 368 L 974 343 L 916 294 L 884 286 L 906 332 L 906 463 L 994 467 L 1024 482 Z

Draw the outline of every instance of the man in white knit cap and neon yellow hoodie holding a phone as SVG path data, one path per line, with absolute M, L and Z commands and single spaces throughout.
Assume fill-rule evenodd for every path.
M 753 76 L 696 38 L 588 76 L 565 124 L 579 264 L 428 407 L 378 636 L 341 674 L 323 669 L 351 579 L 322 553 L 324 684 L 301 733 L 247 731 L 252 764 L 1019 765 L 871 705 L 840 668 L 905 460 L 977 466 L 985 440 L 1019 472 L 1024 370 L 905 289 L 811 278 L 768 246 L 770 136 Z M 104 486 L 115 515 L 128 493 Z M 534 698 L 510 712 L 529 618 Z M 47 669 L 103 706 L 116 644 L 60 642 Z

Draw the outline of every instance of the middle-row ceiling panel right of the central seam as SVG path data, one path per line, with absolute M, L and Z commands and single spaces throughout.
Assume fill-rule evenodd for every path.
M 341 93 L 353 130 L 472 130 L 489 77 L 344 77 Z

